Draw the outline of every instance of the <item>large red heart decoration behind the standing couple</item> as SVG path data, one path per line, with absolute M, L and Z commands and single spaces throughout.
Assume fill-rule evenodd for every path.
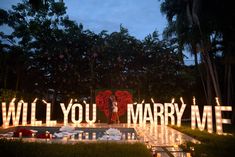
M 104 112 L 105 116 L 109 116 L 109 97 L 112 95 L 111 90 L 99 91 L 96 96 L 96 105 Z M 118 115 L 122 116 L 127 111 L 127 104 L 132 103 L 132 95 L 128 91 L 115 91 L 118 104 Z

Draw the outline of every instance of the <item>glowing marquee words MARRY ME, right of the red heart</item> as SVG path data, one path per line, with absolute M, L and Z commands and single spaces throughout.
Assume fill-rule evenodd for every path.
M 134 107 L 135 106 L 135 107 Z M 169 120 L 171 125 L 175 125 L 177 118 L 177 126 L 181 126 L 181 119 L 185 111 L 186 104 L 182 103 L 179 108 L 177 103 L 153 103 L 151 104 L 128 104 L 127 109 L 127 123 L 131 124 L 144 124 L 150 122 L 150 124 L 168 125 Z M 231 124 L 230 119 L 222 118 L 222 111 L 232 111 L 231 106 L 214 106 L 215 109 L 215 124 L 216 124 L 216 133 L 223 134 L 223 125 L 222 124 Z M 153 110 L 153 111 L 152 111 Z M 199 112 L 199 106 L 191 106 L 191 128 L 195 129 L 196 124 L 199 130 L 203 131 L 207 122 L 207 131 L 209 133 L 213 132 L 213 118 L 212 118 L 212 106 L 204 106 L 202 119 Z M 176 115 L 176 118 L 175 118 Z

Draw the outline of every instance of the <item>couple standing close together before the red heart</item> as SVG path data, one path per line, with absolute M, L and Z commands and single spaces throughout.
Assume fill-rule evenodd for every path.
M 115 95 L 111 95 L 109 97 L 109 119 L 108 123 L 111 124 L 112 117 L 114 117 L 114 122 L 119 123 L 119 116 L 118 116 L 118 106 L 117 106 L 117 99 Z

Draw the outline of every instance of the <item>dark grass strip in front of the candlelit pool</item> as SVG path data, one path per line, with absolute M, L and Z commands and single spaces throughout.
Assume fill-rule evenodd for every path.
M 0 154 L 6 157 L 151 157 L 140 143 L 27 143 L 0 139 Z

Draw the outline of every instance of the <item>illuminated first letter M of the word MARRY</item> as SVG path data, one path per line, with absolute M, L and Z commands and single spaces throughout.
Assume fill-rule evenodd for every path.
M 139 123 L 142 123 L 142 116 L 143 116 L 143 104 L 136 105 L 136 114 L 134 112 L 133 104 L 127 105 L 127 123 L 131 124 L 131 118 L 133 119 L 133 123 L 136 124 L 138 117 Z

